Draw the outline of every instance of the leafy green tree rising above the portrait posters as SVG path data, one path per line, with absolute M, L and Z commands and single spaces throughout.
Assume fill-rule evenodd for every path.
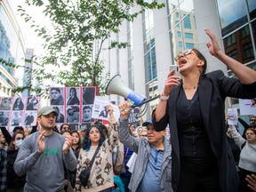
M 47 3 L 47 4 L 45 4 Z M 100 92 L 106 82 L 100 60 L 103 43 L 111 33 L 118 33 L 124 20 L 132 21 L 146 9 L 161 9 L 164 4 L 143 0 L 26 0 L 30 6 L 43 6 L 44 15 L 52 21 L 53 31 L 36 25 L 21 6 L 25 21 L 32 22 L 38 36 L 45 40 L 44 55 L 34 57 L 33 74 L 37 82 L 50 79 L 66 86 L 96 85 Z M 140 12 L 130 12 L 140 5 Z M 109 49 L 125 48 L 127 43 L 111 42 Z M 61 70 L 59 70 L 60 68 Z M 109 76 L 107 76 L 108 78 Z M 40 89 L 42 92 L 42 90 Z

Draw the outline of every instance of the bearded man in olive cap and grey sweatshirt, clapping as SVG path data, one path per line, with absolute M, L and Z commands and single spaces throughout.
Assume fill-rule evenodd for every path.
M 76 156 L 71 147 L 72 137 L 64 137 L 52 129 L 58 113 L 51 107 L 37 113 L 39 132 L 23 140 L 14 163 L 17 175 L 27 173 L 24 191 L 64 191 L 64 167 L 76 170 Z

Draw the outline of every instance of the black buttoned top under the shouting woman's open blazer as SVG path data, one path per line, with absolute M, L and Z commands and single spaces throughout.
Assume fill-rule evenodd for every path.
M 198 90 L 196 90 L 192 100 L 187 100 L 184 90 L 180 89 L 176 106 L 180 155 L 194 157 L 213 156 L 212 148 L 204 129 Z

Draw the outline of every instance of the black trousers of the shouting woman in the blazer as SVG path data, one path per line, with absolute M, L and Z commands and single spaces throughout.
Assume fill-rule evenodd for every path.
M 180 156 L 179 192 L 221 191 L 217 161 L 214 157 Z

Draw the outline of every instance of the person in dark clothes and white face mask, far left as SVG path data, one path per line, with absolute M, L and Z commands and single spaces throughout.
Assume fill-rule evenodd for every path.
M 25 138 L 23 132 L 15 132 L 7 149 L 7 191 L 21 191 L 26 183 L 26 174 L 18 176 L 13 170 L 13 164 L 18 155 L 19 148 Z

